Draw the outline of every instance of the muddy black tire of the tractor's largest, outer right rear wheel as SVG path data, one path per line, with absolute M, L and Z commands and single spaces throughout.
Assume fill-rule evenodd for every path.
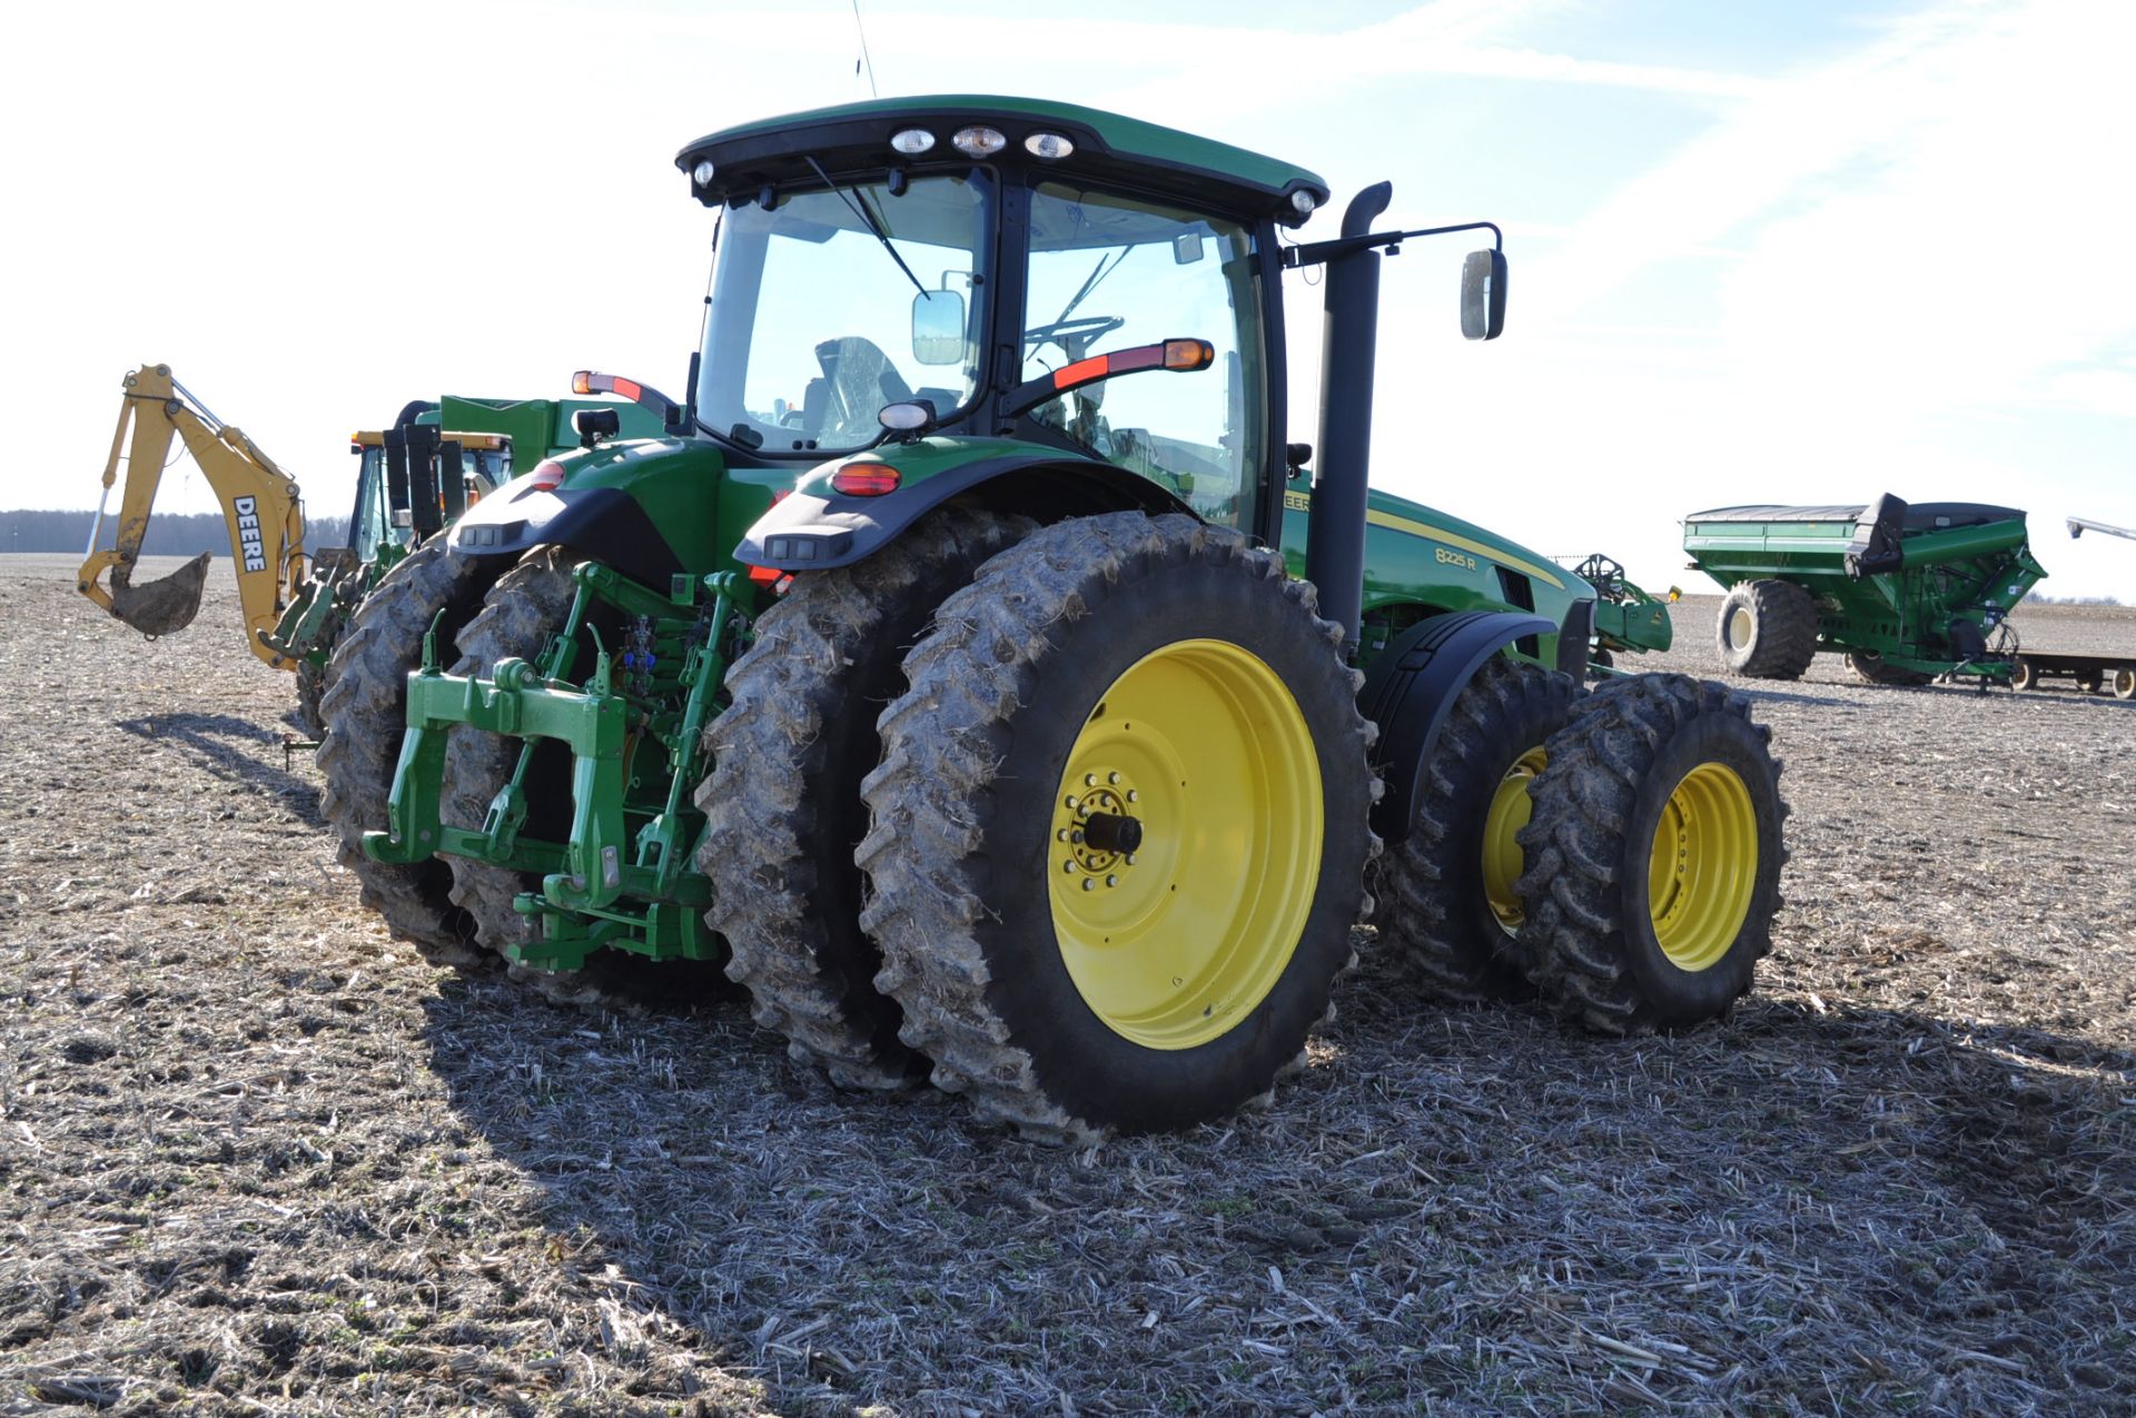
M 1361 677 L 1341 664 L 1339 636 L 1314 613 L 1312 587 L 1286 581 L 1273 553 L 1179 515 L 1113 513 L 1045 527 L 942 604 L 906 658 L 910 690 L 882 713 L 882 765 L 863 784 L 874 820 L 857 852 L 869 878 L 861 923 L 882 944 L 876 987 L 904 1008 L 901 1038 L 933 1059 L 940 1087 L 1040 1140 L 1181 1128 L 1269 1091 L 1326 1017 L 1329 989 L 1354 959 L 1352 925 L 1371 910 L 1363 895 L 1376 850 L 1371 728 L 1356 711 Z M 1049 880 L 1068 835 L 1055 824 L 1059 788 L 1087 726 L 1104 720 L 1106 696 L 1132 668 L 1173 653 L 1230 656 L 1243 675 L 1267 673 L 1294 696 L 1286 732 L 1299 735 L 1294 722 L 1305 730 L 1286 745 L 1305 747 L 1286 762 L 1312 765 L 1316 777 L 1271 769 L 1250 790 L 1314 782 L 1309 820 L 1324 835 L 1294 905 L 1303 927 L 1279 946 L 1256 935 L 1269 946 L 1218 967 L 1224 980 L 1232 967 L 1258 972 L 1230 1006 L 1237 1019 L 1215 1014 L 1200 1034 L 1183 1027 L 1181 1046 L 1151 1046 L 1130 1038 L 1132 1019 L 1100 1014 L 1070 974 Z M 1235 732 L 1241 722 L 1211 730 Z M 1145 799 L 1160 794 L 1171 786 L 1153 782 Z M 1243 839 L 1282 841 L 1294 871 L 1312 861 L 1282 835 L 1277 814 L 1241 826 Z M 1168 876 L 1158 865 L 1168 852 L 1200 861 L 1192 854 L 1200 846 L 1188 846 L 1198 831 L 1190 816 L 1153 820 L 1145 869 Z M 1166 876 L 1141 886 L 1160 905 Z M 1102 891 L 1096 880 L 1094 888 Z M 1160 933 L 1145 946 L 1171 965 L 1190 948 L 1181 942 L 1192 935 Z M 1149 974 L 1162 991 L 1164 970 Z M 1215 1008 L 1194 1014 L 1200 991 L 1188 980 L 1177 1006 L 1192 1021 Z M 1153 1014 L 1173 1021 L 1164 1006 Z

